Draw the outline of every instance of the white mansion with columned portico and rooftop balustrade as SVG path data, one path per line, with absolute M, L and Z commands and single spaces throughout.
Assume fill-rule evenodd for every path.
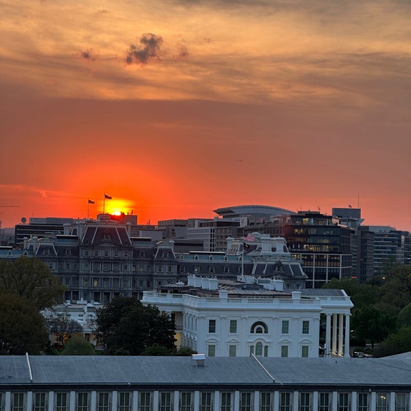
M 189 275 L 187 285 L 145 291 L 142 303 L 171 314 L 179 345 L 208 356 L 318 357 L 321 314 L 326 355 L 349 356 L 353 304 L 343 290 L 284 290 L 275 276 Z

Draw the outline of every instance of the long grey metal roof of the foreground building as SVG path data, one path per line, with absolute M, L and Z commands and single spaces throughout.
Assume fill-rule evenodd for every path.
M 32 380 L 31 380 L 31 375 Z M 411 358 L 0 356 L 0 390 L 12 386 L 149 388 L 411 388 Z

